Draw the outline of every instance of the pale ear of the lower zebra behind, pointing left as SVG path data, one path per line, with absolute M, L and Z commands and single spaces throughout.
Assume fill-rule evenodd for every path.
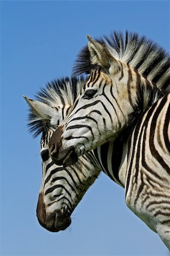
M 31 100 L 24 95 L 23 97 L 30 106 L 32 114 L 36 115 L 36 117 L 41 118 L 43 121 L 50 121 L 51 125 L 57 124 L 59 114 L 55 108 L 52 108 L 51 106 L 48 106 L 43 102 Z

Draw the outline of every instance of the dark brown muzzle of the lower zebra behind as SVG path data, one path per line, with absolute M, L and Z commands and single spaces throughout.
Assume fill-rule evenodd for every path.
M 65 230 L 71 225 L 70 213 L 62 210 L 55 210 L 52 213 L 46 213 L 43 196 L 39 195 L 38 205 L 36 209 L 36 216 L 39 224 L 50 232 L 59 232 Z

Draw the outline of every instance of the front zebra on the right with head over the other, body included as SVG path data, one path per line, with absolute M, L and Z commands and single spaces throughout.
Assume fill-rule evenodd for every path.
M 126 131 L 119 167 L 126 204 L 170 249 L 169 56 L 157 57 L 155 44 L 144 52 L 146 43 L 139 42 L 132 42 L 137 49 L 131 53 L 128 36 L 133 36 L 123 41 L 115 35 L 114 46 L 121 38 L 118 49 L 108 38 L 105 43 L 88 36 L 90 59 L 83 50 L 78 64 L 86 63 L 91 73 L 49 140 L 49 153 L 56 164 L 70 166 Z M 85 72 L 84 65 L 81 69 Z

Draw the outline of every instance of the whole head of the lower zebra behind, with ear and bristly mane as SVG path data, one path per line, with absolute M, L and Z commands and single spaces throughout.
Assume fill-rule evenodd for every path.
M 99 168 L 88 155 L 67 168 L 57 166 L 49 155 L 49 139 L 71 108 L 81 82 L 68 79 L 55 81 L 55 84 L 49 84 L 38 94 L 39 100 L 24 96 L 30 106 L 30 130 L 34 131 L 35 136 L 42 133 L 42 184 L 36 213 L 40 225 L 51 232 L 65 230 L 71 224 L 74 208 L 99 174 Z M 72 86 L 75 87 L 74 93 Z

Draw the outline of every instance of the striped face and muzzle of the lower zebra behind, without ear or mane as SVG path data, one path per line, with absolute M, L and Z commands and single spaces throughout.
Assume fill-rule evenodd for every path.
M 37 217 L 45 229 L 58 232 L 71 224 L 74 208 L 96 180 L 99 169 L 93 166 L 88 156 L 78 159 L 72 167 L 57 166 L 48 150 L 48 141 L 53 131 L 52 128 L 45 131 L 41 141 L 43 175 Z

